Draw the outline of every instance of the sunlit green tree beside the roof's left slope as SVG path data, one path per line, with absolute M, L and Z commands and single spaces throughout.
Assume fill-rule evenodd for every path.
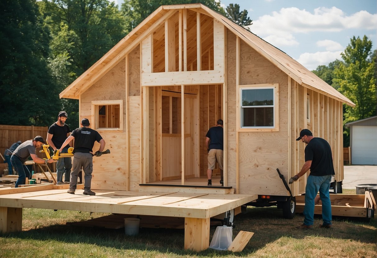
M 51 31 L 50 73 L 58 92 L 97 62 L 126 35 L 126 19 L 107 0 L 43 0 L 40 12 Z M 69 124 L 78 125 L 78 101 L 61 99 Z

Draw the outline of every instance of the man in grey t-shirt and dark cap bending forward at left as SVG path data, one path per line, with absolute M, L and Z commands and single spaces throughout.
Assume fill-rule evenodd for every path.
M 16 186 L 24 185 L 26 178 L 31 178 L 30 171 L 24 165 L 25 161 L 31 157 L 35 163 L 38 164 L 47 164 L 55 162 L 54 159 L 41 159 L 37 157 L 36 148 L 42 146 L 42 144 L 46 144 L 41 136 L 36 136 L 33 140 L 28 140 L 21 143 L 13 152 L 11 156 L 11 163 L 14 169 L 18 173 L 18 179 L 16 182 Z

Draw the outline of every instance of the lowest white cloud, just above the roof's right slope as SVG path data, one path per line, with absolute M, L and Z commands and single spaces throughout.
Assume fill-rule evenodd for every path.
M 300 64 L 308 68 L 309 70 L 315 70 L 318 65 L 328 65 L 335 59 L 341 59 L 340 53 L 342 51 L 325 51 L 316 53 L 303 53 L 297 60 Z

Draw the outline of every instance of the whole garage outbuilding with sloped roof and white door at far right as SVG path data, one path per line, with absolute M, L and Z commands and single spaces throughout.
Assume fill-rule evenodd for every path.
M 350 129 L 352 164 L 377 165 L 377 116 L 346 123 L 345 126 Z

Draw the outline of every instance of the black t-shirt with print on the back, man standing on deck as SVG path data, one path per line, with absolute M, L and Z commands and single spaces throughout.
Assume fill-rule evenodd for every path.
M 72 136 L 75 137 L 75 146 L 73 152 L 93 152 L 93 146 L 95 141 L 100 142 L 101 135 L 88 127 L 80 127 L 72 132 Z

